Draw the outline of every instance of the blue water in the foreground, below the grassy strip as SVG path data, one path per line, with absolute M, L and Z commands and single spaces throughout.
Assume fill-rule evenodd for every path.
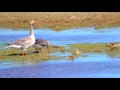
M 102 58 L 102 59 L 101 59 Z M 22 74 L 21 74 L 22 73 Z M 50 60 L 35 65 L 1 68 L 2 78 L 118 78 L 120 60 L 91 55 L 71 60 Z

